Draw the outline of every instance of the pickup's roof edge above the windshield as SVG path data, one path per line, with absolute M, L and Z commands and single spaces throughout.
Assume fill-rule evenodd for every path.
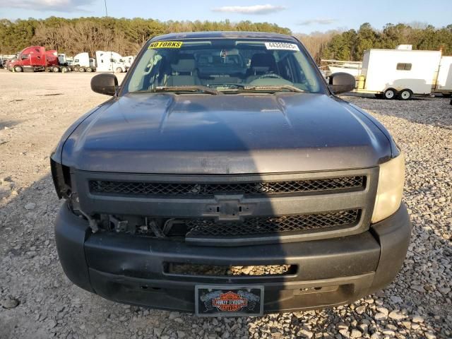
M 268 33 L 268 32 L 235 32 L 235 31 L 213 31 L 213 32 L 179 32 L 158 35 L 150 41 L 174 40 L 174 39 L 218 39 L 218 38 L 254 38 L 254 39 L 278 39 L 297 42 L 295 37 L 286 34 Z

